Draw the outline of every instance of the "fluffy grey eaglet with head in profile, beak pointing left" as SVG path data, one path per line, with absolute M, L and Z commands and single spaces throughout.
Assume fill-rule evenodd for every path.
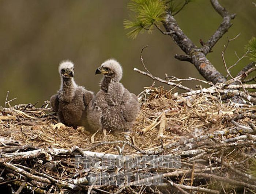
M 114 59 L 102 63 L 95 74 L 103 74 L 101 90 L 88 106 L 88 123 L 91 130 L 126 131 L 132 127 L 139 113 L 139 101 L 119 81 L 123 70 Z

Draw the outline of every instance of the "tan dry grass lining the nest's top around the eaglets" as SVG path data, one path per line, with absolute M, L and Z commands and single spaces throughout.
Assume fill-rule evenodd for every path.
M 143 150 L 153 150 L 161 146 L 161 141 L 156 138 L 159 130 L 159 122 L 154 129 L 142 133 L 142 129 L 151 125 L 163 111 L 167 117 L 166 130 L 163 145 L 180 138 L 191 138 L 193 135 L 203 135 L 217 130 L 223 130 L 233 126 L 223 120 L 239 115 L 244 109 L 235 108 L 230 104 L 221 104 L 219 98 L 204 94 L 195 99 L 187 100 L 182 97 L 173 97 L 170 92 L 163 88 L 153 88 L 146 102 L 142 102 L 140 114 L 133 126 L 132 137 L 137 147 Z M 23 107 L 19 108 L 21 111 Z M 34 110 L 33 110 L 34 109 Z M 246 109 L 246 108 L 245 108 Z M 51 110 L 51 109 L 44 109 Z M 48 111 L 47 111 L 48 112 Z M 240 112 L 240 113 L 239 113 Z M 57 117 L 48 117 L 46 111 L 37 108 L 27 109 L 26 115 L 12 111 L 11 115 L 0 117 L 0 135 L 11 137 L 20 141 L 21 144 L 33 144 L 38 147 L 72 148 L 74 145 L 87 150 L 93 144 L 103 141 L 125 140 L 122 135 L 108 133 L 104 137 L 102 132 L 94 136 L 94 143 L 91 143 L 91 135 L 79 132 L 72 127 L 53 128 L 57 124 Z M 32 118 L 33 117 L 33 118 Z M 49 118 L 49 119 L 48 119 Z M 160 121 L 158 118 L 157 121 Z M 252 121 L 246 118 L 245 121 Z M 97 148 L 97 152 L 118 154 L 114 147 L 103 146 Z M 125 154 L 131 154 L 134 150 L 125 150 Z

